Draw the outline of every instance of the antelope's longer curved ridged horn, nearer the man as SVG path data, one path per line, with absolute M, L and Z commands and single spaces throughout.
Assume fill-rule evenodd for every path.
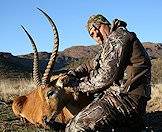
M 45 15 L 45 17 L 47 18 L 47 20 L 49 21 L 49 23 L 52 27 L 52 31 L 54 34 L 54 47 L 53 47 L 52 54 L 50 56 L 48 65 L 47 65 L 46 70 L 42 77 L 42 84 L 45 85 L 45 84 L 48 84 L 50 81 L 50 77 L 51 77 L 50 72 L 54 66 L 55 61 L 56 61 L 58 47 L 59 47 L 59 36 L 58 36 L 58 31 L 57 31 L 56 25 L 54 24 L 53 20 L 44 11 L 42 11 L 39 8 L 37 8 L 37 9 Z

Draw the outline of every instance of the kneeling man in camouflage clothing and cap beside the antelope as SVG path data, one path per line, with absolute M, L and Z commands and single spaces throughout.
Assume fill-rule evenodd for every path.
M 90 36 L 101 47 L 91 63 L 70 70 L 67 76 L 80 80 L 73 89 L 100 93 L 66 126 L 66 132 L 102 131 L 142 123 L 151 94 L 151 61 L 126 22 L 110 22 L 100 14 L 87 22 Z

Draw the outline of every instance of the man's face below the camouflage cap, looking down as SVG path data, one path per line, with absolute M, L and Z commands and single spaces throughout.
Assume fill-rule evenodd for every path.
M 99 26 L 93 26 L 90 30 L 90 36 L 97 42 L 97 44 L 103 44 L 109 35 L 109 27 L 106 24 L 100 24 Z

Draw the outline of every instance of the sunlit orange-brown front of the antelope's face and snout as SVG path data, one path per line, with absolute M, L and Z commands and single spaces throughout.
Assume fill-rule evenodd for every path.
M 47 103 L 45 94 L 48 87 L 39 87 L 26 96 L 16 97 L 12 109 L 16 116 L 26 118 L 29 122 L 46 127 L 44 117 L 52 114 L 52 103 Z M 49 117 L 50 118 L 50 117 Z

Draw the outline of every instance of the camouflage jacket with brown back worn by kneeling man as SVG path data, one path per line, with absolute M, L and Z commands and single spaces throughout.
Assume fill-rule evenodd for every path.
M 124 92 L 150 98 L 151 62 L 135 33 L 119 26 L 111 32 L 101 48 L 101 53 L 91 63 L 83 64 L 75 70 L 82 80 L 77 89 L 94 93 L 104 91 L 114 84 L 120 85 L 127 69 L 126 83 L 124 87 L 119 87 L 120 91 L 124 89 Z M 144 72 L 146 69 L 147 72 Z

